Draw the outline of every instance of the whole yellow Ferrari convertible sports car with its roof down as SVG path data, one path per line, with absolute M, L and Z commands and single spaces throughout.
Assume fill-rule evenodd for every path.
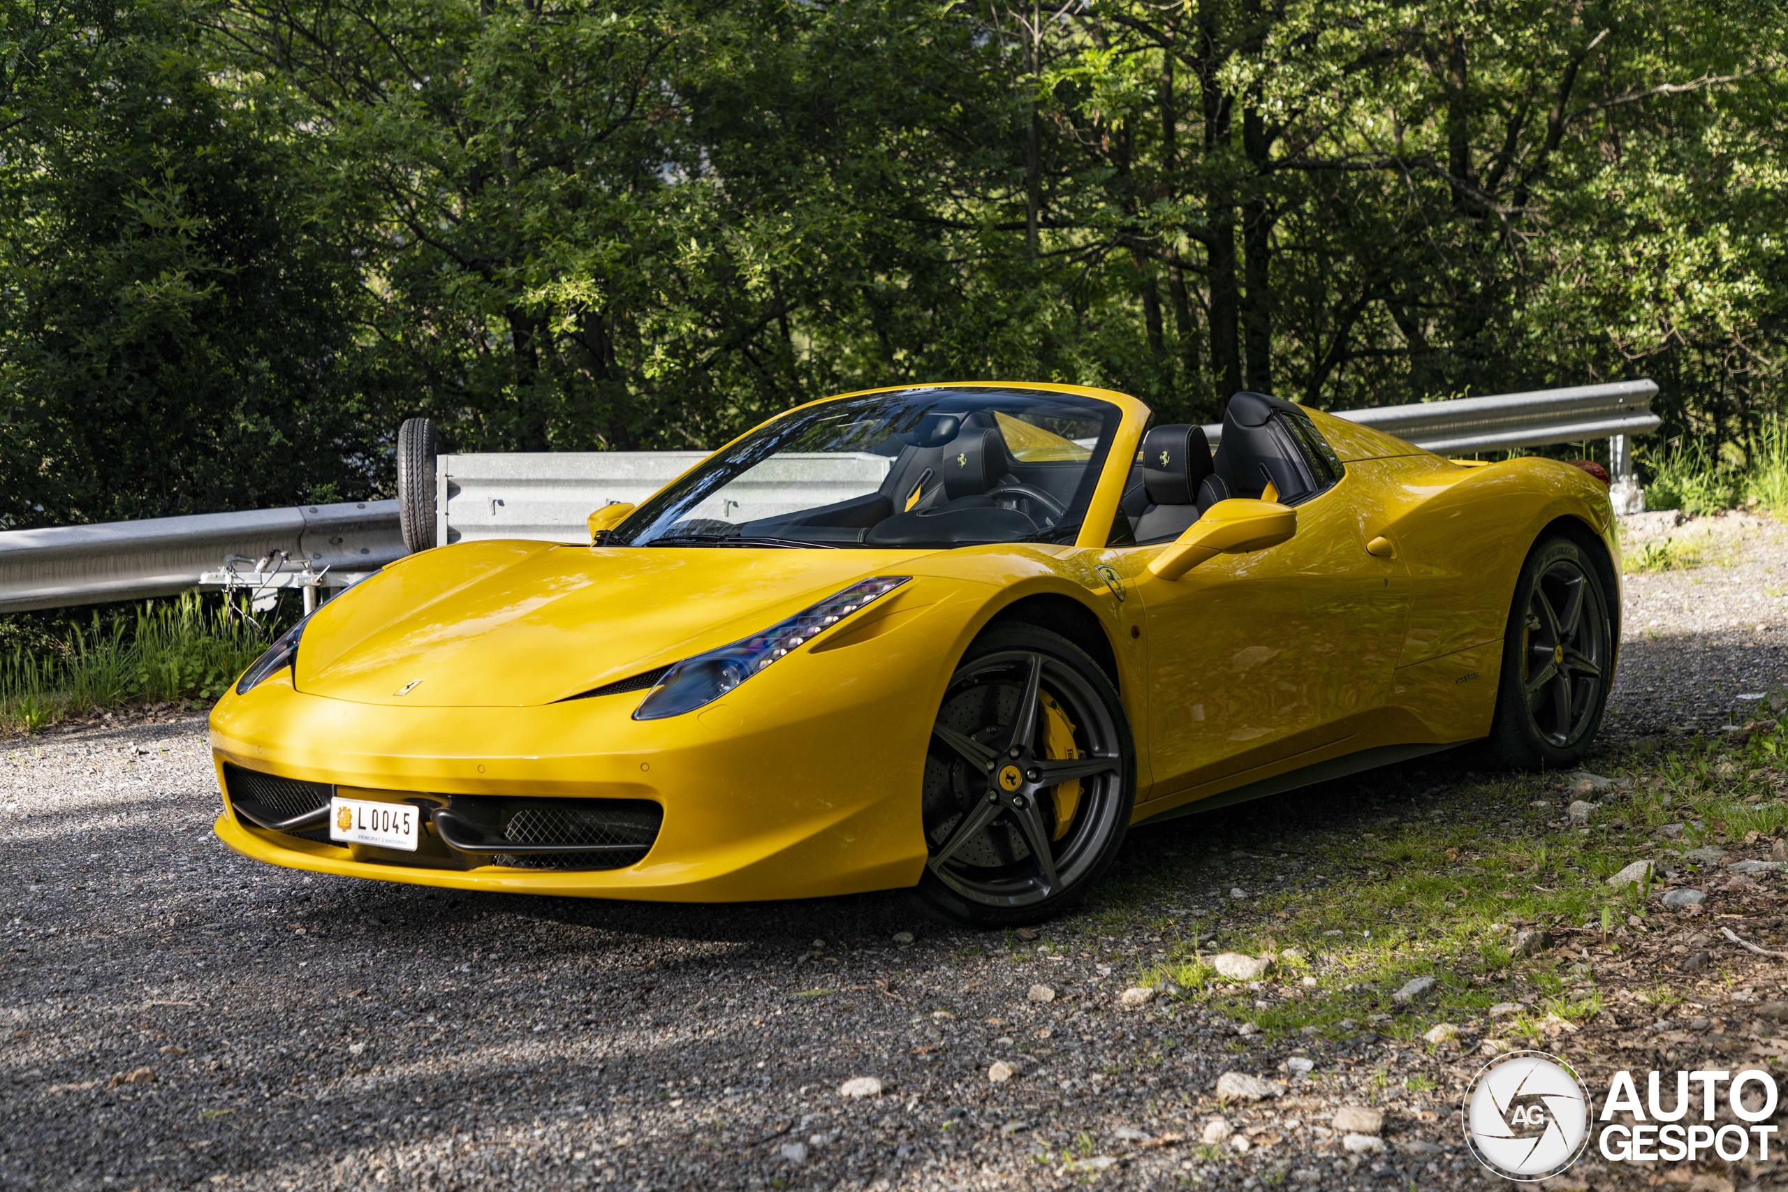
M 1620 642 L 1604 483 L 1236 393 L 790 409 L 590 543 L 413 554 L 211 713 L 245 856 L 433 886 L 914 888 L 1044 919 L 1132 824 L 1489 738 L 1579 760 Z

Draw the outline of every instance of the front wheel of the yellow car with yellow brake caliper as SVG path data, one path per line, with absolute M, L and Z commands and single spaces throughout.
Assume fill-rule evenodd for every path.
M 923 910 L 976 928 L 1058 915 L 1110 867 L 1130 827 L 1135 747 L 1118 690 L 1046 629 L 982 634 L 944 692 L 921 801 Z

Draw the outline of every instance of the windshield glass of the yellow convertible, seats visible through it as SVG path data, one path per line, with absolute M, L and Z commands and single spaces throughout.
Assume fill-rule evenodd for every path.
M 647 500 L 633 547 L 1071 541 L 1121 411 L 1067 393 L 923 388 L 776 418 Z

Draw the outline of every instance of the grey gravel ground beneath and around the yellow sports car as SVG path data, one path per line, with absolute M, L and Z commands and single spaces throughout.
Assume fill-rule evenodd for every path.
M 1729 565 L 1629 577 L 1604 761 L 1634 736 L 1718 729 L 1740 695 L 1788 679 L 1768 595 L 1788 584 L 1788 536 L 1718 522 Z M 1418 801 L 1507 817 L 1446 754 L 1280 797 L 1273 817 L 1135 833 L 1082 911 L 976 935 L 898 895 L 651 906 L 311 877 L 211 836 L 200 718 L 0 749 L 5 1188 L 1495 1183 L 1454 1117 L 1473 1060 L 1370 1029 L 1293 1047 L 1194 1003 L 1121 999 L 1189 911 L 1239 929 L 1243 886 L 1293 888 L 1318 838 Z M 1659 963 L 1708 947 L 1652 945 Z M 1620 965 L 1656 976 L 1632 945 Z M 1727 979 L 1722 997 L 1768 983 Z M 1624 1045 L 1622 1013 L 1573 1042 L 1591 1060 L 1598 1031 Z M 1727 1019 L 1697 1022 L 1725 1038 Z M 1675 1056 L 1713 1035 L 1647 1045 Z M 1293 1051 L 1314 1072 L 1286 1095 L 1214 1101 L 1228 1070 L 1289 1079 Z M 1386 1065 L 1427 1078 L 1391 1095 Z M 840 1095 L 853 1078 L 880 1090 Z M 1348 1153 L 1332 1115 L 1366 1099 L 1389 1146 Z M 1246 1154 L 1198 1146 L 1218 1113 Z

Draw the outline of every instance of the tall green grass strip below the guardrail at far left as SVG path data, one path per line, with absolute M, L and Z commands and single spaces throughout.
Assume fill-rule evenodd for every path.
M 148 602 L 131 618 L 73 625 L 0 658 L 0 733 L 43 729 L 132 702 L 213 701 L 275 633 L 198 595 Z

